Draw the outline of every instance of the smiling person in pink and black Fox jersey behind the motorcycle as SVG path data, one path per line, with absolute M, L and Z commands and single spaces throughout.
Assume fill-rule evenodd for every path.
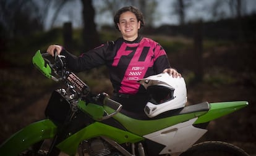
M 124 110 L 143 112 L 149 97 L 137 81 L 162 72 L 173 77 L 181 74 L 170 67 L 166 52 L 159 43 L 139 35 L 140 28 L 144 26 L 143 15 L 139 9 L 127 6 L 117 10 L 114 25 L 121 32 L 121 38 L 108 41 L 79 57 L 59 45 L 49 46 L 47 52 L 54 55 L 56 51 L 65 55 L 67 67 L 74 72 L 106 65 L 114 88 L 111 99 L 120 102 Z

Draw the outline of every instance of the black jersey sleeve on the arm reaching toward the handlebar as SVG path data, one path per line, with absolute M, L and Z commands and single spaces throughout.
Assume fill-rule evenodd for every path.
M 70 54 L 66 49 L 62 49 L 61 54 L 66 56 L 67 68 L 73 72 L 82 72 L 90 70 L 105 64 L 105 52 L 108 49 L 109 42 L 102 44 L 95 49 L 87 51 L 80 56 Z

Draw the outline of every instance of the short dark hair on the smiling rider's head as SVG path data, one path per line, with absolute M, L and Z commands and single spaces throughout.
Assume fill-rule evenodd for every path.
M 137 7 L 127 6 L 127 7 L 122 7 L 121 9 L 117 10 L 116 15 L 114 15 L 114 26 L 117 28 L 117 30 L 119 30 L 117 23 L 119 23 L 120 15 L 127 11 L 130 11 L 135 14 L 138 22 L 140 21 L 140 28 L 142 28 L 144 26 L 144 18 L 143 18 L 142 12 L 140 12 L 140 10 L 137 9 Z

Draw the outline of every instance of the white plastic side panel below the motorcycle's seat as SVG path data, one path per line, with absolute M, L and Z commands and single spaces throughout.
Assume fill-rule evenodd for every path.
M 161 129 L 143 137 L 166 146 L 159 154 L 179 154 L 189 149 L 189 147 L 207 132 L 207 129 L 192 126 L 195 120 L 197 118 Z

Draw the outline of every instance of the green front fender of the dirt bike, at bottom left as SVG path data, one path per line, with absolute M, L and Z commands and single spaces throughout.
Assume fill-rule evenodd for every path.
M 19 155 L 36 142 L 53 138 L 57 126 L 51 120 L 40 120 L 20 129 L 0 146 L 0 155 Z

